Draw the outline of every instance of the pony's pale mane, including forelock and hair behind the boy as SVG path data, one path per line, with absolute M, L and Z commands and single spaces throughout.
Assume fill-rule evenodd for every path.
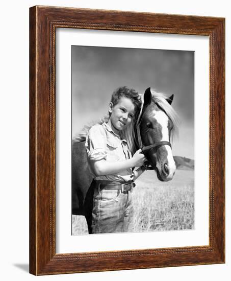
M 132 152 L 132 155 L 139 148 L 138 140 L 136 138 L 136 132 L 134 130 L 134 128 L 137 126 L 137 124 L 141 118 L 143 104 L 144 104 L 144 101 L 143 101 L 144 96 L 142 94 L 139 94 L 139 95 L 140 95 L 140 100 L 141 100 L 141 104 L 142 104 L 141 110 L 136 113 L 132 122 L 126 127 L 126 129 L 120 132 L 120 136 L 122 138 L 126 139 L 127 145 L 129 146 L 129 149 Z M 156 92 L 151 89 L 151 95 L 152 95 L 152 101 L 155 102 L 160 108 L 162 108 L 166 112 L 166 114 L 168 115 L 168 118 L 173 123 L 173 129 L 171 132 L 171 139 L 173 140 L 173 138 L 178 135 L 178 127 L 179 127 L 178 116 L 177 116 L 176 112 L 174 111 L 174 109 L 171 107 L 171 105 L 166 101 L 167 97 L 163 93 Z M 90 130 L 90 128 L 93 125 L 95 125 L 95 124 L 101 125 L 102 123 L 104 123 L 104 122 L 107 123 L 108 121 L 109 121 L 109 114 L 106 114 L 99 120 L 92 121 L 92 122 L 86 124 L 84 126 L 84 128 L 80 131 L 80 133 L 76 134 L 73 137 L 72 142 L 73 143 L 84 142 L 86 140 L 88 131 Z

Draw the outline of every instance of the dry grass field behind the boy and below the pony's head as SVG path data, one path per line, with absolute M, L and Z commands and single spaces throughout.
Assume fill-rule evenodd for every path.
M 134 232 L 194 228 L 194 170 L 176 170 L 171 181 L 146 171 L 136 180 Z M 88 234 L 82 216 L 72 216 L 72 234 Z

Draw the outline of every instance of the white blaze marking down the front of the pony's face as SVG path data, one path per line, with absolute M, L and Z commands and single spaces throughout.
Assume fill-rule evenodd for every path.
M 163 111 L 153 111 L 153 115 L 155 115 L 155 119 L 157 122 L 162 126 L 162 139 L 169 142 L 169 135 L 168 135 L 168 116 Z M 175 161 L 172 156 L 172 150 L 170 146 L 165 145 L 164 146 L 167 150 L 167 162 L 168 162 L 168 168 L 169 168 L 169 176 L 172 176 L 172 174 L 175 172 Z M 158 164 L 157 164 L 158 165 Z M 160 165 L 160 164 L 159 164 Z M 161 167 L 158 167 L 161 169 Z

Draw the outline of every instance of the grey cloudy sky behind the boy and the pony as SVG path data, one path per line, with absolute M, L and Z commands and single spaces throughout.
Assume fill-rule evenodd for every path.
M 194 159 L 194 52 L 72 46 L 72 135 L 108 112 L 119 86 L 139 93 L 151 87 L 166 96 L 181 123 L 175 156 Z

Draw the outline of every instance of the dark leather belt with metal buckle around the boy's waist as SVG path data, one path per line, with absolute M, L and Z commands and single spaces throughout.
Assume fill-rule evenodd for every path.
M 136 184 L 134 181 L 122 183 L 120 181 L 111 180 L 95 180 L 96 188 L 105 190 L 120 190 L 122 193 L 132 191 Z

